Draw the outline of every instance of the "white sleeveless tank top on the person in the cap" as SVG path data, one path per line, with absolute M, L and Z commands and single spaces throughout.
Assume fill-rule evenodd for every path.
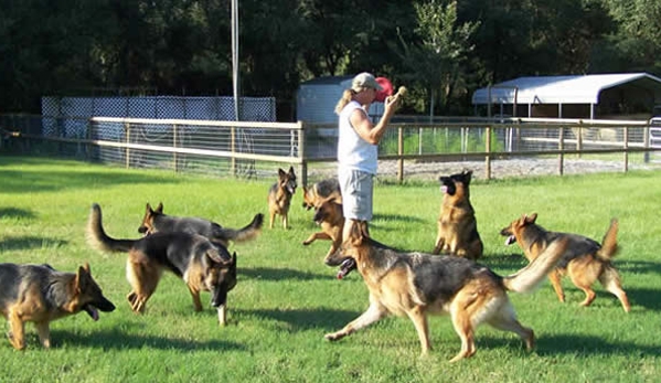
M 353 129 L 350 116 L 355 109 L 365 113 L 361 105 L 355 100 L 347 104 L 340 113 L 338 162 L 340 162 L 340 167 L 347 169 L 355 169 L 370 174 L 376 174 L 376 168 L 379 166 L 379 147 L 362 139 L 355 129 Z

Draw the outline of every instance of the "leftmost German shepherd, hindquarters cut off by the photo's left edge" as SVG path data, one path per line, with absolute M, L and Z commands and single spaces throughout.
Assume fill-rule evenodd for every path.
M 25 348 L 25 322 L 34 322 L 47 349 L 51 321 L 81 311 L 98 320 L 98 310 L 110 312 L 115 305 L 104 297 L 88 264 L 77 273 L 57 272 L 50 265 L 0 264 L 0 310 L 10 323 L 14 349 Z

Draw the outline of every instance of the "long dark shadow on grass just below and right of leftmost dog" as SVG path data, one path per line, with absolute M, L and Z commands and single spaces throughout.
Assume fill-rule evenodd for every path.
M 113 350 L 126 349 L 158 349 L 158 350 L 242 350 L 242 344 L 221 340 L 194 341 L 188 339 L 173 339 L 154 336 L 125 333 L 120 329 L 99 330 L 89 334 L 79 334 L 70 331 L 53 331 L 51 334 L 53 348 L 76 345 L 83 348 L 99 348 Z

